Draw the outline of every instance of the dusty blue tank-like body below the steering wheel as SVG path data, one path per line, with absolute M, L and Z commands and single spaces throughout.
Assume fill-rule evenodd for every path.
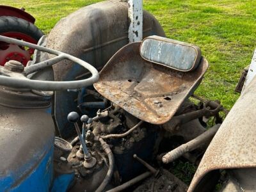
M 51 92 L 0 86 L 0 191 L 49 191 L 53 175 Z

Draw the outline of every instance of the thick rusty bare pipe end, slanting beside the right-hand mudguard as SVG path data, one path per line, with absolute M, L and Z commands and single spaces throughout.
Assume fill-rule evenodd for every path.
M 200 147 L 200 145 L 204 144 L 206 141 L 211 140 L 218 131 L 220 125 L 221 124 L 214 125 L 210 129 L 205 131 L 203 134 L 200 134 L 200 136 L 196 137 L 195 139 L 171 150 L 170 152 L 163 156 L 163 163 L 170 163 L 175 159 L 179 158 L 180 156 L 182 156 L 183 154 L 186 154 L 187 152 L 190 152 Z

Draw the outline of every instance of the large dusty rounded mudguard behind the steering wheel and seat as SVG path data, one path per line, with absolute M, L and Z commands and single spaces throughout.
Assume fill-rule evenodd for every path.
M 61 19 L 47 36 L 47 47 L 81 58 L 100 70 L 118 49 L 128 44 L 128 27 L 127 3 L 95 3 Z M 143 38 L 150 35 L 165 36 L 154 16 L 143 11 Z M 89 75 L 71 61 L 61 61 L 53 68 L 56 81 L 83 79 Z M 68 138 L 74 131 L 65 118 L 77 108 L 77 102 L 67 100 L 75 99 L 77 93 L 55 93 L 54 115 L 63 138 Z

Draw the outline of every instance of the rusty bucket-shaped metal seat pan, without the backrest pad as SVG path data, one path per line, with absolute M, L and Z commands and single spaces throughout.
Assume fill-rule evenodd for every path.
M 126 45 L 100 72 L 95 89 L 125 111 L 151 124 L 164 124 L 198 86 L 208 63 L 178 72 L 143 60 L 141 42 Z

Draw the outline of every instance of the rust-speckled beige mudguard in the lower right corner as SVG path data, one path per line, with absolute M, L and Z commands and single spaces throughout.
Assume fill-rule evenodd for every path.
M 196 170 L 189 191 L 194 191 L 200 180 L 212 170 L 256 167 L 255 95 L 254 77 L 212 139 Z

